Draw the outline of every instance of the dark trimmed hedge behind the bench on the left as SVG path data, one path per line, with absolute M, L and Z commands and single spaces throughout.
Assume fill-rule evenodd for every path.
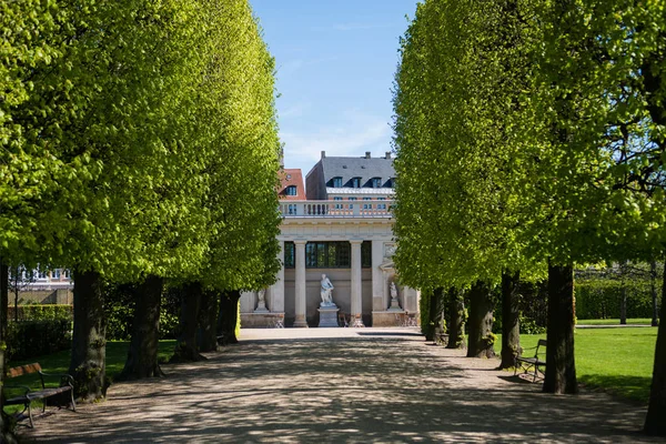
M 7 327 L 7 360 L 22 361 L 71 347 L 69 320 L 10 322 Z

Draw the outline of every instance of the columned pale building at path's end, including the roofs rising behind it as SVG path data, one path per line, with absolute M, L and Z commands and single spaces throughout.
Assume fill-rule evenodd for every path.
M 271 287 L 242 295 L 241 325 L 272 326 L 283 320 L 285 326 L 317 326 L 323 274 L 334 285 L 341 321 L 386 326 L 396 325 L 405 312 L 416 314 L 420 294 L 400 284 L 392 261 L 391 153 L 331 158 L 322 152 L 305 190 L 300 170 L 284 170 L 282 179 L 278 239 L 283 268 Z

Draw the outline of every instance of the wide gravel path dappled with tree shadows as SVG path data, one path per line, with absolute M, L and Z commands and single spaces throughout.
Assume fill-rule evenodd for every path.
M 52 411 L 29 442 L 650 442 L 645 408 L 602 393 L 543 394 L 495 360 L 410 329 L 243 330 L 241 345 L 167 377 Z M 663 442 L 653 440 L 652 442 Z

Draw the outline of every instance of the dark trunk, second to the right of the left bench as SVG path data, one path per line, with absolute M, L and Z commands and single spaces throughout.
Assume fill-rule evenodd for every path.
M 158 362 L 163 286 L 164 280 L 151 274 L 132 289 L 134 296 L 132 341 L 119 380 L 141 380 L 164 375 Z

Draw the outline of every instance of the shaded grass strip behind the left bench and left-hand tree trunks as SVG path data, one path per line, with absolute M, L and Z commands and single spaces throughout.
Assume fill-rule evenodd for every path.
M 158 352 L 160 362 L 165 362 L 171 357 L 174 346 L 175 341 L 160 341 L 160 349 Z M 107 343 L 107 376 L 109 376 L 111 381 L 122 372 L 128 357 L 129 347 L 129 342 L 114 341 Z M 62 352 L 32 357 L 26 361 L 9 362 L 7 369 L 31 364 L 33 362 L 39 362 L 42 371 L 46 373 L 67 373 L 70 364 L 70 351 L 64 350 Z M 57 383 L 58 380 L 56 379 L 54 382 Z M 10 385 L 27 385 L 32 390 L 41 389 L 41 383 L 37 373 L 18 377 L 8 377 L 4 383 Z M 49 383 L 49 380 L 47 380 L 47 383 Z M 39 405 L 39 402 L 34 402 L 33 405 Z M 6 412 L 11 413 L 21 410 L 22 406 L 20 405 L 10 405 L 6 408 Z

